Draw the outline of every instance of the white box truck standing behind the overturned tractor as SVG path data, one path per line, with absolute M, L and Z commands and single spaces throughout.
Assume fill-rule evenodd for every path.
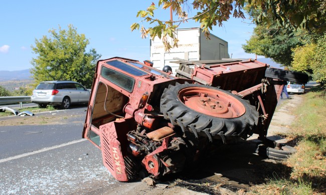
M 164 45 L 158 37 L 150 40 L 150 61 L 153 67 L 159 70 L 166 65 L 171 66 L 173 74 L 179 64 L 171 63 L 174 58 L 185 60 L 221 60 L 230 58 L 228 42 L 211 34 L 207 40 L 201 28 L 177 29 L 176 36 L 179 40 L 178 48 L 172 48 L 170 52 L 164 50 Z M 171 42 L 170 42 L 171 43 Z

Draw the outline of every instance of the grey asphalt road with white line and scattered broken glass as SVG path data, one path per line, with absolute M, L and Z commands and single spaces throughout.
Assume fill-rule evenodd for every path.
M 0 194 L 80 194 L 101 185 L 120 186 L 103 166 L 101 151 L 81 138 L 85 109 L 29 118 L 70 116 L 60 125 L 0 126 Z

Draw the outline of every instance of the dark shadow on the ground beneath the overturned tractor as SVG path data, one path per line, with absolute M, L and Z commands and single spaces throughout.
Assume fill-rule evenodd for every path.
M 181 179 L 185 181 L 180 183 L 181 186 L 211 194 L 214 190 L 205 187 L 205 183 L 220 184 L 237 190 L 262 184 L 268 178 L 289 176 L 290 167 L 255 155 L 255 149 L 256 143 L 244 140 L 236 144 L 219 146 L 195 168 L 168 175 L 162 178 L 161 182 L 171 183 L 174 179 Z

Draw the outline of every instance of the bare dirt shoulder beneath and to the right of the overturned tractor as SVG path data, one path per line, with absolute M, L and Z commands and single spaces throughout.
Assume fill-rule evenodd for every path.
M 298 106 L 302 98 L 292 95 L 274 113 L 267 137 L 280 143 L 288 140 L 278 136 L 279 132 L 289 130 L 295 117 L 289 110 Z M 215 148 L 197 167 L 182 173 L 168 175 L 158 180 L 156 186 L 136 181 L 125 185 L 119 182 L 106 185 L 105 182 L 89 186 L 77 193 L 84 194 L 245 194 L 248 187 L 261 184 L 268 178 L 289 174 L 289 167 L 278 161 L 266 159 L 255 154 L 258 140 L 252 136 L 247 141 L 222 145 Z M 284 171 L 285 170 L 285 171 Z

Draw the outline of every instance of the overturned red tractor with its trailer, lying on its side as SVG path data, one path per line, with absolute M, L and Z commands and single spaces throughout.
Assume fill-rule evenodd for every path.
M 83 137 L 119 181 L 158 178 L 196 163 L 212 144 L 266 138 L 285 81 L 307 76 L 255 60 L 179 59 L 172 76 L 131 59 L 97 63 Z M 167 69 L 169 70 L 169 69 Z

